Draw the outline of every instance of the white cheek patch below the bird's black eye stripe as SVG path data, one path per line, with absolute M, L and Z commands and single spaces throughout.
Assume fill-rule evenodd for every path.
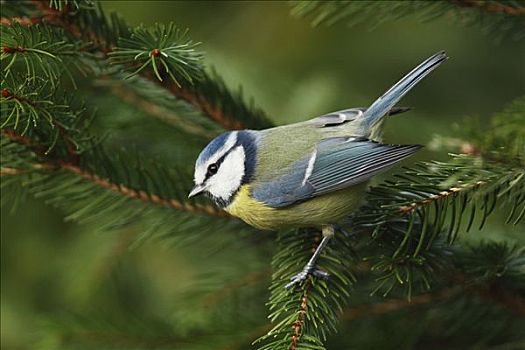
M 208 180 L 208 192 L 225 201 L 239 189 L 244 177 L 244 148 L 237 146 L 224 158 L 217 174 Z

